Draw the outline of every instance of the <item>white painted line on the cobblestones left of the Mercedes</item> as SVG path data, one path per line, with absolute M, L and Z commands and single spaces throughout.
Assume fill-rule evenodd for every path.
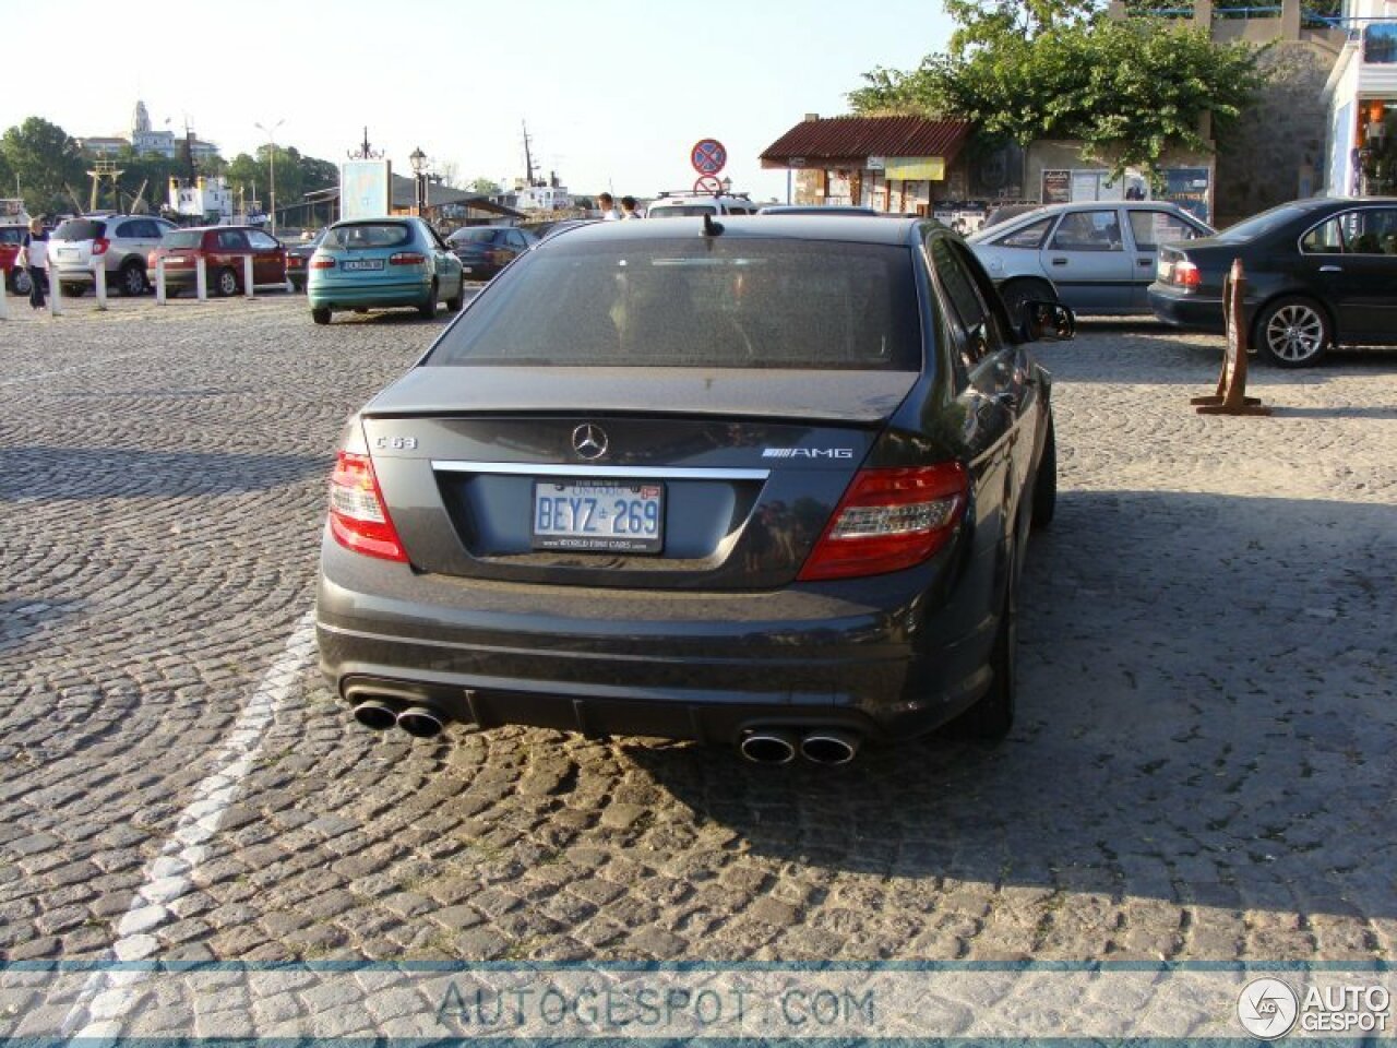
M 224 742 L 211 771 L 196 788 L 190 805 L 180 813 L 175 833 L 145 869 L 145 883 L 137 890 L 126 917 L 116 929 L 110 959 L 137 961 L 159 949 L 154 932 L 176 919 L 170 904 L 194 886 L 194 871 L 208 852 L 224 813 L 242 788 L 261 753 L 267 728 L 291 694 L 291 686 L 305 669 L 314 647 L 314 611 L 306 612 L 286 641 L 286 648 L 263 676 L 257 692 L 243 707 Z M 64 1037 L 115 1037 L 120 1016 L 134 1003 L 137 985 L 147 971 L 98 971 L 84 985 L 63 1020 Z M 82 1028 L 74 1033 L 78 1024 Z

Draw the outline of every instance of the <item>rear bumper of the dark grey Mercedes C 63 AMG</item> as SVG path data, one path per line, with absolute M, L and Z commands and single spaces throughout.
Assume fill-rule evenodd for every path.
M 943 551 L 916 580 L 679 594 L 419 574 L 327 538 L 320 667 L 346 701 L 422 701 L 481 727 L 721 743 L 756 725 L 909 738 L 989 686 L 993 565 L 951 570 L 960 556 Z

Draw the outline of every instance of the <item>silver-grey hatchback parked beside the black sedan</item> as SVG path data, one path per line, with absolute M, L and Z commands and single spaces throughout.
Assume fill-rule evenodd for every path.
M 1077 313 L 1148 316 L 1160 245 L 1211 232 L 1176 204 L 1122 200 L 1049 204 L 968 239 L 1011 313 L 1056 291 Z

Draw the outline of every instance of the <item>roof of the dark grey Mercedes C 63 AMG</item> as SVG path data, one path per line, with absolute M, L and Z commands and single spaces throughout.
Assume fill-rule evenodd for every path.
M 848 240 L 851 243 L 902 245 L 912 229 L 932 225 L 923 218 L 883 218 L 880 215 L 708 215 L 722 226 L 718 236 Z M 587 222 L 564 229 L 557 236 L 545 238 L 541 247 L 564 239 L 570 245 L 591 240 L 675 240 L 703 236 L 704 219 L 697 215 L 666 218 L 662 222 Z

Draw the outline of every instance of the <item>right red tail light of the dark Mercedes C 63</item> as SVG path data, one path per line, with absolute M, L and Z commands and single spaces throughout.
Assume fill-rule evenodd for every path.
M 852 578 L 919 565 L 954 534 L 968 499 L 970 475 L 960 463 L 861 470 L 799 578 Z

